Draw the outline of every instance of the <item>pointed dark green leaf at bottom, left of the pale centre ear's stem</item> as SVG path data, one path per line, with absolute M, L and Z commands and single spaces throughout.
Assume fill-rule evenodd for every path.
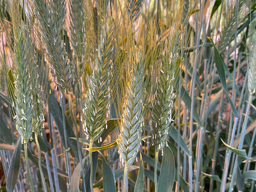
M 103 190 L 104 192 L 116 192 L 116 184 L 112 170 L 104 156 L 102 156 L 102 165 L 103 165 Z

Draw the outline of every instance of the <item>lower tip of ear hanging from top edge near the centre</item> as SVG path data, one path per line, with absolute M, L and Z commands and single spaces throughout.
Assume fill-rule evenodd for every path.
M 129 17 L 132 21 L 136 21 L 140 16 L 143 0 L 128 0 L 127 9 Z

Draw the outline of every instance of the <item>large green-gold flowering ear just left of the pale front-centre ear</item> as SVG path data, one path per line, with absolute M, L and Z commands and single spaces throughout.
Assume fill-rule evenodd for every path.
M 82 106 L 84 107 L 83 128 L 86 136 L 90 136 L 93 141 L 100 138 L 110 114 L 110 78 L 113 68 L 111 60 L 113 48 L 113 24 L 111 20 L 108 20 L 96 52 L 96 66 L 90 76 L 86 96 L 82 98 Z

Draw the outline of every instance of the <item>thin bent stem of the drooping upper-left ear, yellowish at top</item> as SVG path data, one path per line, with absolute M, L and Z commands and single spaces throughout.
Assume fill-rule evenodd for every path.
M 79 142 L 79 134 L 78 134 L 78 128 L 77 128 L 77 123 L 76 123 L 76 118 L 74 116 L 74 112 L 73 112 L 73 108 L 72 108 L 72 98 L 70 95 L 70 92 L 68 92 L 68 103 L 69 103 L 69 110 L 70 113 L 72 115 L 75 127 L 76 127 L 76 144 L 77 144 L 77 148 L 78 148 L 78 156 L 79 156 L 79 162 L 81 163 L 81 172 L 82 172 L 82 183 L 83 183 L 83 188 L 86 189 L 85 186 L 85 173 L 84 173 L 84 166 L 82 164 L 82 154 L 81 154 L 81 150 L 80 150 L 80 142 Z

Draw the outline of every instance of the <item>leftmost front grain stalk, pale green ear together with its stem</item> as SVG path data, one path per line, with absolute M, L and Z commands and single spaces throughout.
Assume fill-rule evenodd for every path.
M 28 166 L 28 154 L 27 154 L 27 142 L 32 140 L 32 79 L 30 76 L 36 75 L 34 71 L 31 70 L 30 66 L 30 52 L 31 39 L 30 30 L 25 25 L 21 17 L 14 17 L 14 14 L 21 16 L 21 10 L 18 8 L 18 3 L 13 2 L 12 5 L 12 26 L 14 32 L 14 44 L 12 52 L 13 61 L 13 77 L 14 77 L 14 90 L 16 92 L 12 100 L 12 107 L 15 111 L 12 112 L 14 121 L 16 122 L 16 129 L 18 130 L 22 144 L 24 144 L 26 169 L 28 174 L 28 180 L 33 192 L 33 182 L 30 176 L 29 166 Z M 26 49 L 28 48 L 28 49 Z

